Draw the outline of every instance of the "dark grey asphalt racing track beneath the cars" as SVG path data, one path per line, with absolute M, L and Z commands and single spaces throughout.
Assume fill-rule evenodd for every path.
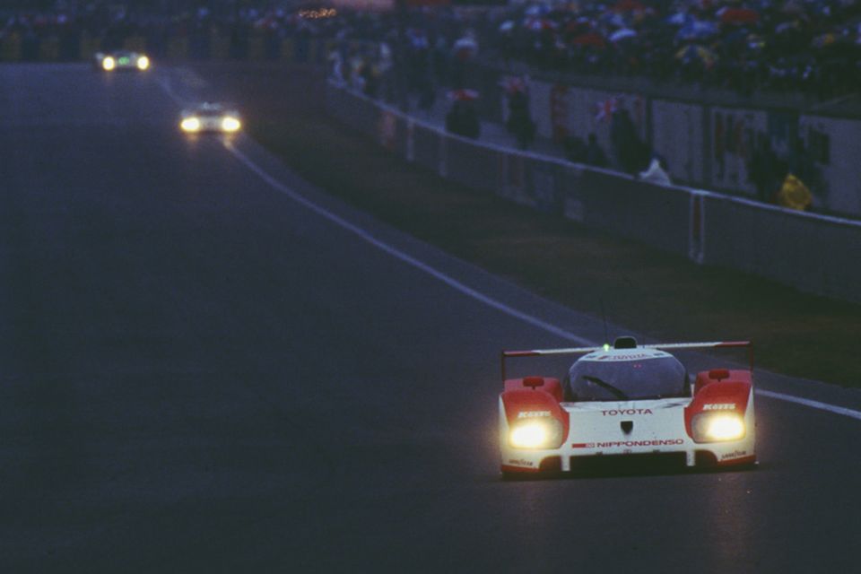
M 0 66 L 0 570 L 857 571 L 852 416 L 761 395 L 754 471 L 501 481 L 500 349 L 601 322 L 180 135 L 204 92 Z

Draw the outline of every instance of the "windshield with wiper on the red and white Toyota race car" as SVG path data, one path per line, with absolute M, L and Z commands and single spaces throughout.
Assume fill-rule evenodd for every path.
M 626 401 L 687 394 L 687 371 L 663 354 L 624 361 L 583 358 L 575 362 L 565 385 L 569 401 Z

